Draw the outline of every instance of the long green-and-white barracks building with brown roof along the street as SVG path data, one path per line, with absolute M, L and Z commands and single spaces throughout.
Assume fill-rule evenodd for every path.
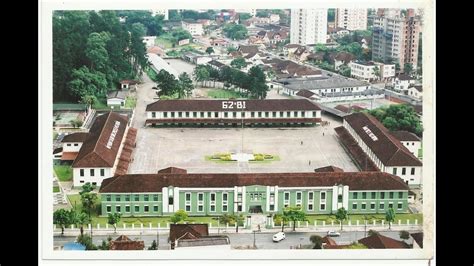
M 307 214 L 408 211 L 408 186 L 384 172 L 188 174 L 166 168 L 157 174 L 105 179 L 100 188 L 102 216 L 190 216 L 280 213 L 300 206 Z

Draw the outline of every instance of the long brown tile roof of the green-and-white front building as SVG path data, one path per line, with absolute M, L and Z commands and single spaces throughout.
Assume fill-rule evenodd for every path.
M 203 173 L 203 174 L 129 174 L 107 178 L 100 193 L 161 192 L 163 187 L 234 186 L 307 187 L 348 185 L 351 190 L 408 190 L 397 176 L 384 172 L 325 173 Z

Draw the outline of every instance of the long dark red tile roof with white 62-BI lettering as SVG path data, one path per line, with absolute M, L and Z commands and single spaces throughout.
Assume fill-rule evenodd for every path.
M 321 110 L 315 103 L 306 99 L 238 100 L 245 102 L 245 111 L 311 111 Z M 242 111 L 223 109 L 222 102 L 228 100 L 160 100 L 147 105 L 146 111 Z M 235 101 L 234 101 L 235 102 Z

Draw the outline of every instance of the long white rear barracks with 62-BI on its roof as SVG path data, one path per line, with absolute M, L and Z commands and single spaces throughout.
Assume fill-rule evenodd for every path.
M 321 123 L 321 109 L 307 99 L 160 100 L 146 108 L 152 126 L 305 126 Z

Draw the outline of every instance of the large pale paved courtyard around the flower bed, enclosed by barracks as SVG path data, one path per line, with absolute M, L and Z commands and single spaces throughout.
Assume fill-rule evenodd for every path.
M 323 120 L 329 118 L 323 117 Z M 329 126 L 305 128 L 140 128 L 128 173 L 156 173 L 169 166 L 190 173 L 312 172 L 334 165 L 358 171 Z M 214 162 L 206 156 L 240 152 L 277 155 L 272 162 Z

